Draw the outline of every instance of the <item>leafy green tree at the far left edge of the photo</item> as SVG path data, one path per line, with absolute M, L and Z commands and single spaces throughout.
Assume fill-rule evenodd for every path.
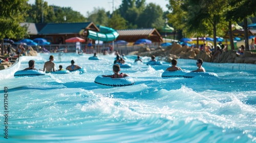
M 25 21 L 27 10 L 30 9 L 27 0 L 1 0 L 0 3 L 0 39 L 20 38 L 26 33 L 26 27 L 20 27 Z M 3 45 L 3 44 L 2 44 Z M 2 46 L 3 47 L 3 46 Z M 2 55 L 4 54 L 2 48 Z

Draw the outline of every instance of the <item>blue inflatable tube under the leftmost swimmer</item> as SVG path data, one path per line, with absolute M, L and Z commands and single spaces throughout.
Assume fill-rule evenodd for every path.
M 14 77 L 34 77 L 34 76 L 44 76 L 45 72 L 38 69 L 29 70 L 18 70 L 15 72 Z

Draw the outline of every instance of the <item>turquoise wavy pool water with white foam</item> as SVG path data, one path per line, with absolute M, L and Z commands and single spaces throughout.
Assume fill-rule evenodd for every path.
M 0 142 L 256 142 L 255 65 L 205 62 L 218 78 L 162 79 L 169 63 L 135 64 L 128 55 L 132 67 L 121 72 L 135 84 L 102 88 L 94 79 L 113 72 L 115 56 L 92 61 L 92 54 L 73 53 L 54 54 L 56 68 L 73 59 L 86 73 L 13 77 L 30 59 L 43 68 L 49 56 L 22 57 L 0 70 Z M 197 68 L 196 60 L 178 59 L 178 66 Z

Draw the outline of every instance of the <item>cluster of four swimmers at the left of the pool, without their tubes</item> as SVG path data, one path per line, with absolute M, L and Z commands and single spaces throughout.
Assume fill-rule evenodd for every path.
M 50 58 L 49 58 L 49 61 L 45 62 L 44 69 L 42 71 L 45 71 L 46 73 L 52 73 L 52 72 L 55 72 L 55 71 L 58 71 L 58 70 L 63 70 L 62 65 L 59 65 L 59 69 L 55 70 L 55 68 L 54 68 L 55 63 L 53 62 L 53 60 L 54 60 L 54 56 L 51 55 Z M 71 65 L 67 66 L 66 69 L 72 71 L 72 70 L 77 70 L 77 69 L 82 68 L 79 65 L 74 65 L 74 63 L 75 63 L 75 61 L 71 60 Z M 35 66 L 35 61 L 30 60 L 29 61 L 29 67 L 25 68 L 24 70 L 36 69 L 36 68 L 34 68 L 34 66 Z

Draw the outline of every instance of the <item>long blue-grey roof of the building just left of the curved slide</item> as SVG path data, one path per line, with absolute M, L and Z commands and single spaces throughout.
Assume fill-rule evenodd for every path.
M 81 30 L 90 27 L 92 22 L 79 23 L 47 23 L 38 34 L 53 35 L 53 34 L 77 34 Z M 93 24 L 94 25 L 94 24 Z

